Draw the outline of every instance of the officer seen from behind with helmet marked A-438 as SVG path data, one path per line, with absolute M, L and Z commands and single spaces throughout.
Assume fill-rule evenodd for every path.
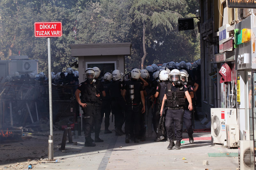
M 124 114 L 123 114 L 123 102 L 124 99 L 121 95 L 123 91 L 123 83 L 119 81 L 121 79 L 121 71 L 114 70 L 112 72 L 113 81 L 110 84 L 110 96 L 111 96 L 111 109 L 112 114 L 115 115 L 115 131 L 116 136 L 123 135 L 122 126 L 124 124 Z

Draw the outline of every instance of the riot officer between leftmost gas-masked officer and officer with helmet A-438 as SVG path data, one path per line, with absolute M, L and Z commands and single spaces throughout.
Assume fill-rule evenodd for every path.
M 106 96 L 102 97 L 102 106 L 101 106 L 101 110 L 100 110 L 100 113 L 101 113 L 100 122 L 102 122 L 102 119 L 105 114 L 105 122 L 104 122 L 105 123 L 105 131 L 104 131 L 104 133 L 112 133 L 112 131 L 110 131 L 108 129 L 109 115 L 111 112 L 111 97 L 110 97 L 109 88 L 110 88 L 110 81 L 112 79 L 112 74 L 107 72 L 104 74 L 103 78 L 104 78 L 104 81 L 102 82 L 102 84 L 103 84 L 103 88 L 106 93 Z

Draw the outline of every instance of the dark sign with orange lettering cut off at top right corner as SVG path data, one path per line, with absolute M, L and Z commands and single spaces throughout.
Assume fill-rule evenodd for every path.
M 255 0 L 228 0 L 228 8 L 256 8 Z

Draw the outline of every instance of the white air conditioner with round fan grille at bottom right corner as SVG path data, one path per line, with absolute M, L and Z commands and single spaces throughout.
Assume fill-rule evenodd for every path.
M 238 141 L 238 166 L 239 170 L 252 169 L 254 164 L 253 141 Z

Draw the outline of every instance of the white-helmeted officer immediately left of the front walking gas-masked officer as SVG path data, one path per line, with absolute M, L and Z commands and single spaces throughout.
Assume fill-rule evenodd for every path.
M 155 132 L 157 131 L 158 125 L 159 125 L 159 120 L 161 115 L 160 113 L 160 109 L 161 109 L 161 105 L 162 105 L 162 101 L 164 98 L 164 94 L 167 93 L 167 86 L 171 86 L 171 83 L 168 81 L 169 79 L 169 73 L 166 70 L 161 70 L 159 73 L 159 80 L 160 83 L 158 83 L 158 85 L 156 86 L 156 93 L 154 95 L 154 98 L 156 98 L 156 111 L 155 114 L 153 114 L 153 126 L 154 126 L 154 130 Z M 164 128 L 164 127 L 162 127 Z M 155 142 L 160 142 L 161 140 L 164 139 L 164 134 L 162 133 L 162 128 L 158 129 L 158 133 L 156 132 L 156 140 Z

